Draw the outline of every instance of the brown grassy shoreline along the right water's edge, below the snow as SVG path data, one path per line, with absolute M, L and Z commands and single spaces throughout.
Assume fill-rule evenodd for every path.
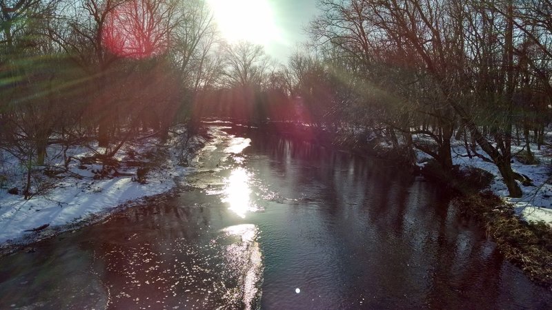
M 332 141 L 332 139 L 338 135 L 333 134 L 333 137 L 328 138 L 324 135 L 331 133 L 324 132 L 319 128 L 297 124 L 286 124 L 284 127 L 286 132 L 275 132 L 275 130 L 282 129 L 277 126 L 270 126 L 269 132 L 270 134 L 293 136 L 293 138 L 310 143 L 319 143 L 324 147 L 332 147 L 363 158 L 376 157 L 388 160 L 397 166 L 407 162 L 401 158 L 401 154 L 398 152 L 380 153 L 370 148 L 368 144 L 339 143 L 336 145 L 335 140 Z M 305 134 L 305 131 L 309 130 L 314 133 Z M 464 166 L 464 170 L 470 169 L 469 167 Z M 466 177 L 466 172 L 461 172 L 462 169 L 460 169 L 459 175 L 444 176 L 438 173 L 433 174 L 434 171 L 424 168 L 426 168 L 425 165 L 408 167 L 413 176 L 422 176 L 434 184 L 446 183 L 446 190 L 451 191 L 453 195 L 451 203 L 456 205 L 466 216 L 477 220 L 477 223 L 486 231 L 488 238 L 491 238 L 500 253 L 504 254 L 504 258 L 522 269 L 533 282 L 552 291 L 552 227 L 549 224 L 524 219 L 524 214 L 515 210 L 514 203 L 505 200 L 489 189 L 490 184 L 484 185 L 485 182 L 482 180 L 474 182 L 473 178 L 469 178 L 473 177 L 473 174 L 476 174 L 475 177 L 484 178 L 480 171 L 468 172 L 472 175 Z M 472 168 L 486 172 L 478 167 Z M 491 173 L 486 172 L 486 174 Z M 497 182 L 497 176 L 492 174 L 491 176 L 493 176 L 493 180 L 489 182 Z

